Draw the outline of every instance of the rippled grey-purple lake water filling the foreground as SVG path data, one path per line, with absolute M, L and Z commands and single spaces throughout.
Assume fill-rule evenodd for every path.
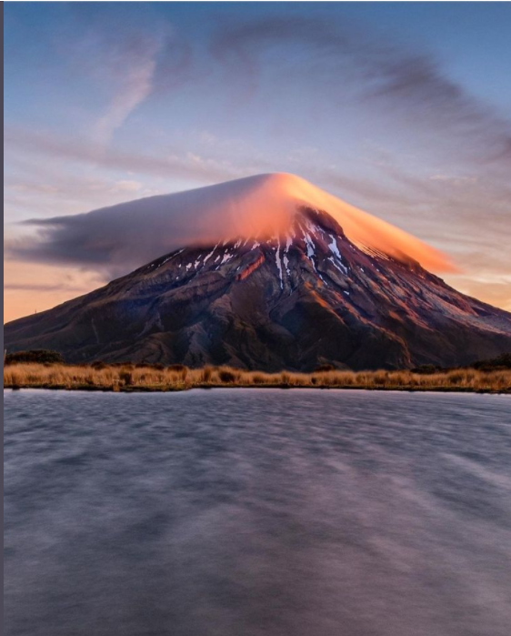
M 4 397 L 9 636 L 509 634 L 509 397 Z

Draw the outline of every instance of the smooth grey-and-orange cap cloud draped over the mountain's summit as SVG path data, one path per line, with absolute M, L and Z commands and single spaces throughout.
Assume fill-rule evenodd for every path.
M 335 217 L 357 245 L 414 258 L 432 271 L 452 270 L 444 255 L 418 238 L 288 174 L 256 175 L 72 217 L 29 221 L 38 228 L 37 237 L 12 252 L 35 261 L 126 273 L 185 245 L 285 234 L 303 206 Z

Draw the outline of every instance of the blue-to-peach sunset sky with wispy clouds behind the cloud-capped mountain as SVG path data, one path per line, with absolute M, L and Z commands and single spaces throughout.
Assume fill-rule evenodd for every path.
M 48 219 L 268 172 L 511 310 L 509 24 L 508 3 L 6 4 L 5 320 L 123 273 L 97 232 L 63 258 Z

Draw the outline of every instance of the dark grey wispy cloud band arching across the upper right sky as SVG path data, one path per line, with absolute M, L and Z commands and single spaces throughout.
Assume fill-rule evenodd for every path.
M 448 78 L 431 56 L 409 52 L 353 24 L 297 16 L 227 24 L 213 36 L 211 50 L 231 86 L 237 79 L 236 90 L 245 85 L 253 95 L 268 66 L 273 70 L 273 55 L 285 89 L 293 81 L 290 68 L 299 65 L 300 82 L 321 100 L 386 106 L 382 112 L 391 124 L 434 140 L 438 149 L 454 147 L 478 161 L 511 159 L 509 119 Z

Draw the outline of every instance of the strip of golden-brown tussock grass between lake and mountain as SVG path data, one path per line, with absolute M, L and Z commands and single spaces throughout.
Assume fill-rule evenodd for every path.
M 437 373 L 412 371 L 317 371 L 263 373 L 228 367 L 159 368 L 134 365 L 10 364 L 6 389 L 90 389 L 108 391 L 174 391 L 243 388 L 375 389 L 511 393 L 511 369 L 481 371 L 460 368 Z

